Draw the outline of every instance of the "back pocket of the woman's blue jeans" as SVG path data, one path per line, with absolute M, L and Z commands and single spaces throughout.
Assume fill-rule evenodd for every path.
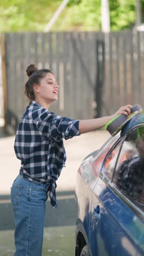
M 20 205 L 22 186 L 13 184 L 11 187 L 11 203 L 13 206 Z

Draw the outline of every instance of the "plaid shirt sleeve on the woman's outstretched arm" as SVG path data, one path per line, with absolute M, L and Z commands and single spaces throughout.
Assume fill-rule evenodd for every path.
M 47 110 L 42 110 L 39 114 L 38 129 L 43 135 L 50 135 L 56 141 L 80 135 L 79 120 L 60 117 Z

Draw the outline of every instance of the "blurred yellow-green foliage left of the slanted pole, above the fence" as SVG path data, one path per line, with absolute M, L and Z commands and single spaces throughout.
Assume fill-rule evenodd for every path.
M 61 2 L 0 0 L 1 31 L 43 31 Z

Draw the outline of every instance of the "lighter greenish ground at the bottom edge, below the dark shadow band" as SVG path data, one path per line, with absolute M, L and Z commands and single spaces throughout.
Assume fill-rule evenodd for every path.
M 14 232 L 0 231 L 0 255 L 13 256 Z M 41 256 L 74 256 L 75 226 L 58 226 L 44 229 L 43 253 Z M 34 255 L 37 256 L 37 255 Z

